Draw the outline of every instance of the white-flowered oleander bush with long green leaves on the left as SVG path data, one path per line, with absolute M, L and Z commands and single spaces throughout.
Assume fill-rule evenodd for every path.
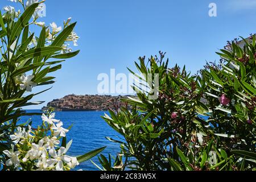
M 104 150 L 81 156 L 68 156 L 72 140 L 67 143 L 63 123 L 55 119 L 52 110 L 42 113 L 27 113 L 22 107 L 38 105 L 31 102 L 35 87 L 54 83 L 49 74 L 61 69 L 64 60 L 76 56 L 69 42 L 77 46 L 79 36 L 73 31 L 76 23 L 69 18 L 62 27 L 38 22 L 42 2 L 18 0 L 22 11 L 12 6 L 0 11 L 0 169 L 2 170 L 70 170 Z M 36 36 L 34 26 L 41 27 Z M 54 60 L 55 59 L 55 60 Z M 32 122 L 20 123 L 24 115 L 42 115 L 42 125 L 36 129 Z

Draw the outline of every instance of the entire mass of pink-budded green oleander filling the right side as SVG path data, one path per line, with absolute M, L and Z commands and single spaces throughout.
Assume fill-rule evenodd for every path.
M 207 63 L 195 76 L 185 67 L 168 68 L 162 52 L 147 63 L 140 57 L 135 65 L 143 77 L 131 73 L 157 89 L 158 98 L 133 85 L 137 96 L 105 114 L 123 137 L 107 138 L 121 144 L 123 160 L 105 158 L 103 169 L 255 170 L 255 35 L 243 43 L 229 42 L 217 53 L 219 63 Z M 159 76 L 159 86 L 150 74 Z

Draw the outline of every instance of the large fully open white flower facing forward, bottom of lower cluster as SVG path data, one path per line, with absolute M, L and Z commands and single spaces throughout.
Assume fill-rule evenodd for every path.
M 69 163 L 71 159 L 69 156 L 65 156 L 65 147 L 60 147 L 60 149 L 56 152 L 55 148 L 49 150 L 49 154 L 53 159 L 48 160 L 49 167 L 54 167 L 56 164 L 56 171 L 63 171 L 63 162 Z

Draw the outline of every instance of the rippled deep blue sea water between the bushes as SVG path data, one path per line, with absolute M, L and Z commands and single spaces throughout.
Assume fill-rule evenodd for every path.
M 28 110 L 28 112 L 38 112 L 40 110 Z M 100 147 L 107 146 L 102 152 L 105 156 L 109 153 L 114 157 L 119 150 L 119 144 L 109 142 L 105 137 L 115 138 L 118 133 L 114 131 L 105 121 L 101 118 L 104 111 L 56 111 L 56 119 L 60 119 L 64 123 L 64 127 L 68 128 L 73 124 L 72 129 L 67 133 L 68 141 L 73 139 L 71 148 L 69 148 L 68 155 L 77 156 L 85 154 L 89 151 L 95 150 Z M 36 127 L 42 123 L 40 116 L 22 117 L 22 123 L 32 118 L 32 126 Z M 119 136 L 120 137 L 120 136 Z M 97 157 L 94 157 L 93 162 L 98 164 Z M 81 163 L 76 169 L 83 170 L 98 170 L 90 161 Z

